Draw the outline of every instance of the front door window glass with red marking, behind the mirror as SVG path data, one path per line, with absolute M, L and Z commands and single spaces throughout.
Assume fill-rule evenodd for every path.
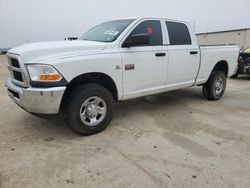
M 157 20 L 148 20 L 140 23 L 130 34 L 145 34 L 150 36 L 150 46 L 159 46 L 163 44 L 161 22 Z

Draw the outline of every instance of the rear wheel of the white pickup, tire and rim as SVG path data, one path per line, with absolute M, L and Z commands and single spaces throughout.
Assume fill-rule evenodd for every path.
M 227 78 L 224 72 L 215 70 L 202 87 L 202 93 L 208 100 L 219 100 L 226 90 Z

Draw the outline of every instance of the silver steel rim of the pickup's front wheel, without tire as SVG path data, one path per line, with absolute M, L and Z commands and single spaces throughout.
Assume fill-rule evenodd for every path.
M 100 97 L 94 96 L 86 99 L 80 108 L 81 121 L 90 127 L 103 121 L 107 113 L 107 104 Z

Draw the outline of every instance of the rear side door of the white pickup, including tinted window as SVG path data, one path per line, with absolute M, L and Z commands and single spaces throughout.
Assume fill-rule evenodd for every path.
M 172 21 L 165 24 L 169 36 L 167 87 L 191 86 L 199 69 L 199 47 L 186 24 Z

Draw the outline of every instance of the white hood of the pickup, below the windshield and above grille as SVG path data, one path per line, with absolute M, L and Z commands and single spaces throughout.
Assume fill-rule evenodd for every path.
M 48 59 L 98 53 L 104 50 L 106 43 L 75 40 L 53 41 L 24 44 L 8 51 L 21 56 L 25 64 Z

